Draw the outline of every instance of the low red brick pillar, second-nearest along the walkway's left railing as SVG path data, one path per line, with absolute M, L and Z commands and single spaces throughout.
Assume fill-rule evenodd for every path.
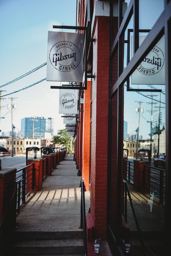
M 34 182 L 34 191 L 40 191 L 42 188 L 42 180 L 43 180 L 43 159 L 42 158 L 29 158 L 27 159 L 27 165 L 34 164 L 35 165 L 35 182 Z M 30 168 L 30 167 L 28 167 Z M 32 167 L 31 167 L 32 168 Z M 30 171 L 31 172 L 31 171 Z M 27 170 L 27 179 L 29 180 L 29 171 Z M 31 181 L 30 181 L 31 182 Z M 30 189 L 31 184 L 27 184 L 27 190 Z

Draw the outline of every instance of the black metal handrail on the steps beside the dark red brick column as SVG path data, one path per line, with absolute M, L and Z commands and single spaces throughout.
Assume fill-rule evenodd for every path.
M 81 180 L 81 223 L 80 228 L 83 228 L 84 235 L 84 256 L 87 256 L 87 232 L 86 232 L 86 210 L 85 210 L 85 195 L 84 181 Z

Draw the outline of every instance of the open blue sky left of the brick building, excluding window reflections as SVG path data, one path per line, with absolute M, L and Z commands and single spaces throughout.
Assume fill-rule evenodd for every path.
M 11 131 L 12 120 L 18 132 L 21 119 L 33 116 L 54 118 L 54 134 L 65 129 L 62 114 L 59 114 L 59 89 L 50 88 L 60 86 L 60 82 L 46 81 L 46 65 L 43 64 L 47 62 L 48 31 L 62 31 L 53 29 L 53 25 L 76 26 L 76 3 L 76 0 L 0 0 L 2 132 Z M 63 29 L 63 32 L 74 33 L 75 30 Z M 3 86 L 41 65 L 28 76 Z M 14 105 L 13 113 L 11 104 Z

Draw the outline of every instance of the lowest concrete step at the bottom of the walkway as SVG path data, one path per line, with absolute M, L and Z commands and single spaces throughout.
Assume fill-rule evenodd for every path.
M 22 240 L 12 244 L 13 255 L 73 255 L 84 253 L 83 239 Z

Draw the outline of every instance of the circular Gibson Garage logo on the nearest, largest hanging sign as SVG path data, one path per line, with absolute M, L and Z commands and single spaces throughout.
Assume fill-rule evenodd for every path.
M 81 54 L 76 45 L 69 41 L 55 44 L 49 53 L 49 59 L 57 70 L 70 72 L 76 69 L 81 61 Z

